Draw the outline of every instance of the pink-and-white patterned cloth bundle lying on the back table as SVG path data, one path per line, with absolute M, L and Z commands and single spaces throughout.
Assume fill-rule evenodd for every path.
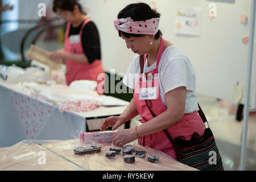
M 75 112 L 86 112 L 96 109 L 100 103 L 98 101 L 65 101 L 59 105 L 59 111 L 75 111 Z

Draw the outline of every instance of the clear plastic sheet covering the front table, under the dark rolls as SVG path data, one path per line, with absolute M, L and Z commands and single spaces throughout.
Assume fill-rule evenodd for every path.
M 101 152 L 77 155 L 73 151 L 79 146 L 90 146 L 92 141 L 81 143 L 73 140 L 23 140 L 14 146 L 0 148 L 0 170 L 93 170 L 93 171 L 168 171 L 196 170 L 177 162 L 170 156 L 152 148 L 129 143 L 136 150 L 146 151 L 146 155 L 159 156 L 159 163 L 150 163 L 146 157 L 135 155 L 134 163 L 125 163 L 122 152 L 114 158 L 107 158 L 105 151 L 112 143 L 98 143 Z M 94 143 L 97 144 L 97 143 Z M 44 155 L 42 155 L 44 154 Z

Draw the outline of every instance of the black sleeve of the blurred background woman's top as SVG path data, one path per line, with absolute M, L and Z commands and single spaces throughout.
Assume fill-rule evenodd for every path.
M 82 30 L 82 48 L 89 63 L 96 59 L 101 59 L 100 36 L 96 25 L 90 21 L 85 24 Z

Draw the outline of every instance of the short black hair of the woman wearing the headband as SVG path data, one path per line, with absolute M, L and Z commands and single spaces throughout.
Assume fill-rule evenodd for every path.
M 124 9 L 119 11 L 117 18 L 128 18 L 131 17 L 134 21 L 142 21 L 142 20 L 148 20 L 151 18 L 160 18 L 160 13 L 156 11 L 156 9 L 151 9 L 150 6 L 148 6 L 146 3 L 132 3 L 130 5 L 127 5 Z M 123 31 L 118 31 L 119 36 L 121 34 L 125 36 L 126 38 L 130 38 L 131 36 L 134 37 L 141 37 L 145 36 L 143 34 L 129 34 Z M 155 40 L 159 39 L 160 36 L 162 36 L 162 32 L 158 30 L 155 34 Z

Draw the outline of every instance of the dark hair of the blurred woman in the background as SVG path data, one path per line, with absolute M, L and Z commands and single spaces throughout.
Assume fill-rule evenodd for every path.
M 82 6 L 80 5 L 79 2 L 77 2 L 77 0 L 54 0 L 53 1 L 53 7 L 52 10 L 56 13 L 57 9 L 61 9 L 61 10 L 67 10 L 67 11 L 72 11 L 74 10 L 75 6 L 79 7 L 79 11 L 82 14 L 86 14 L 83 10 L 82 10 Z

